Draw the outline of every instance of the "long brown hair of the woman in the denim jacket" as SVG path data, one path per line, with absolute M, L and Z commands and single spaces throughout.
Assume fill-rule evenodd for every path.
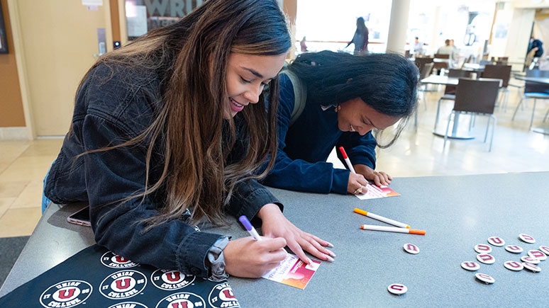
M 181 21 L 152 30 L 95 64 L 128 64 L 165 72 L 162 107 L 152 125 L 123 144 L 93 151 L 148 144 L 145 190 L 126 200 L 144 199 L 160 188 L 167 192 L 165 204 L 159 206 L 160 216 L 150 219 L 149 226 L 177 219 L 187 209 L 192 209 L 195 222 L 202 217 L 221 222 L 222 207 L 231 199 L 235 185 L 265 176 L 269 169 L 260 175 L 254 172 L 277 149 L 278 79 L 270 83 L 268 106 L 262 94 L 259 103 L 237 115 L 245 122 L 248 147 L 243 159 L 226 166 L 236 142 L 233 119 L 223 120 L 227 62 L 231 52 L 281 55 L 291 44 L 286 18 L 276 0 L 208 0 Z M 223 130 L 224 121 L 229 130 Z M 159 151 L 164 153 L 162 173 L 152 180 L 153 154 Z M 273 158 L 269 168 L 272 164 Z

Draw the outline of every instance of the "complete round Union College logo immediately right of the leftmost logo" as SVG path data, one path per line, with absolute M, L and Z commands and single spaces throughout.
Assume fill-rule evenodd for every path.
M 109 275 L 101 283 L 99 292 L 111 300 L 122 300 L 138 295 L 147 285 L 147 278 L 137 270 L 121 270 Z

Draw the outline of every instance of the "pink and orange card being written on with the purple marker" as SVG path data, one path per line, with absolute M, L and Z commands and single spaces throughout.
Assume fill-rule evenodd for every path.
M 312 261 L 313 263 L 306 264 L 297 256 L 288 253 L 284 261 L 282 261 L 279 266 L 273 268 L 269 273 L 263 275 L 262 277 L 303 290 L 307 283 L 309 283 L 309 280 L 313 277 L 314 273 L 316 273 L 318 266 L 321 264 L 320 261 Z

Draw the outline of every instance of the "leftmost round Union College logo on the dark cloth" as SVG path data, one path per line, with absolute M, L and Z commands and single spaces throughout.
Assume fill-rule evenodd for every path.
M 40 304 L 44 307 L 74 307 L 87 300 L 91 290 L 93 288 L 85 281 L 66 280 L 48 287 L 40 295 Z

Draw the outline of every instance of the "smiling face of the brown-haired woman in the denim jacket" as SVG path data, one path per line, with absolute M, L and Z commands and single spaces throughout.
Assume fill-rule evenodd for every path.
M 265 85 L 282 69 L 286 54 L 275 56 L 232 53 L 227 68 L 226 118 L 234 117 L 249 103 L 257 103 Z

